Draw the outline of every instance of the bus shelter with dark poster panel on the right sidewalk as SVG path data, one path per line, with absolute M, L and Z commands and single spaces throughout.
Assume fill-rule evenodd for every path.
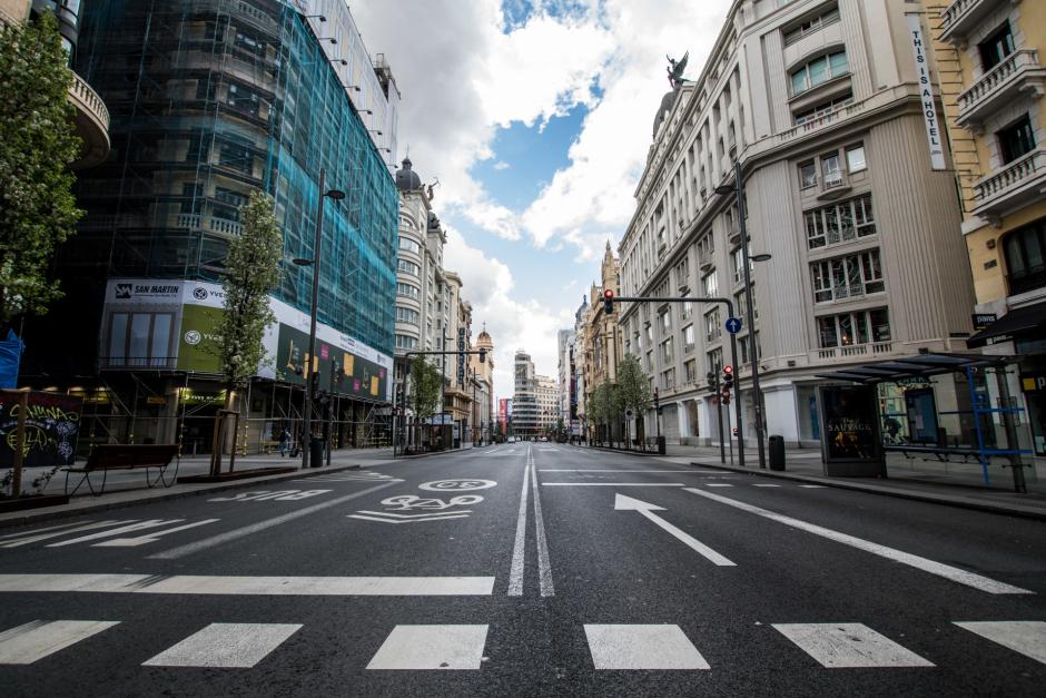
M 1009 468 L 1014 490 L 1026 491 L 1034 473 L 1022 448 L 1024 410 L 1010 395 L 1006 366 L 1013 357 L 918 354 L 819 374 L 821 460 L 825 474 L 887 476 L 886 456 L 979 465 L 985 486 L 991 471 Z M 1034 475 L 1033 475 L 1034 476 Z

